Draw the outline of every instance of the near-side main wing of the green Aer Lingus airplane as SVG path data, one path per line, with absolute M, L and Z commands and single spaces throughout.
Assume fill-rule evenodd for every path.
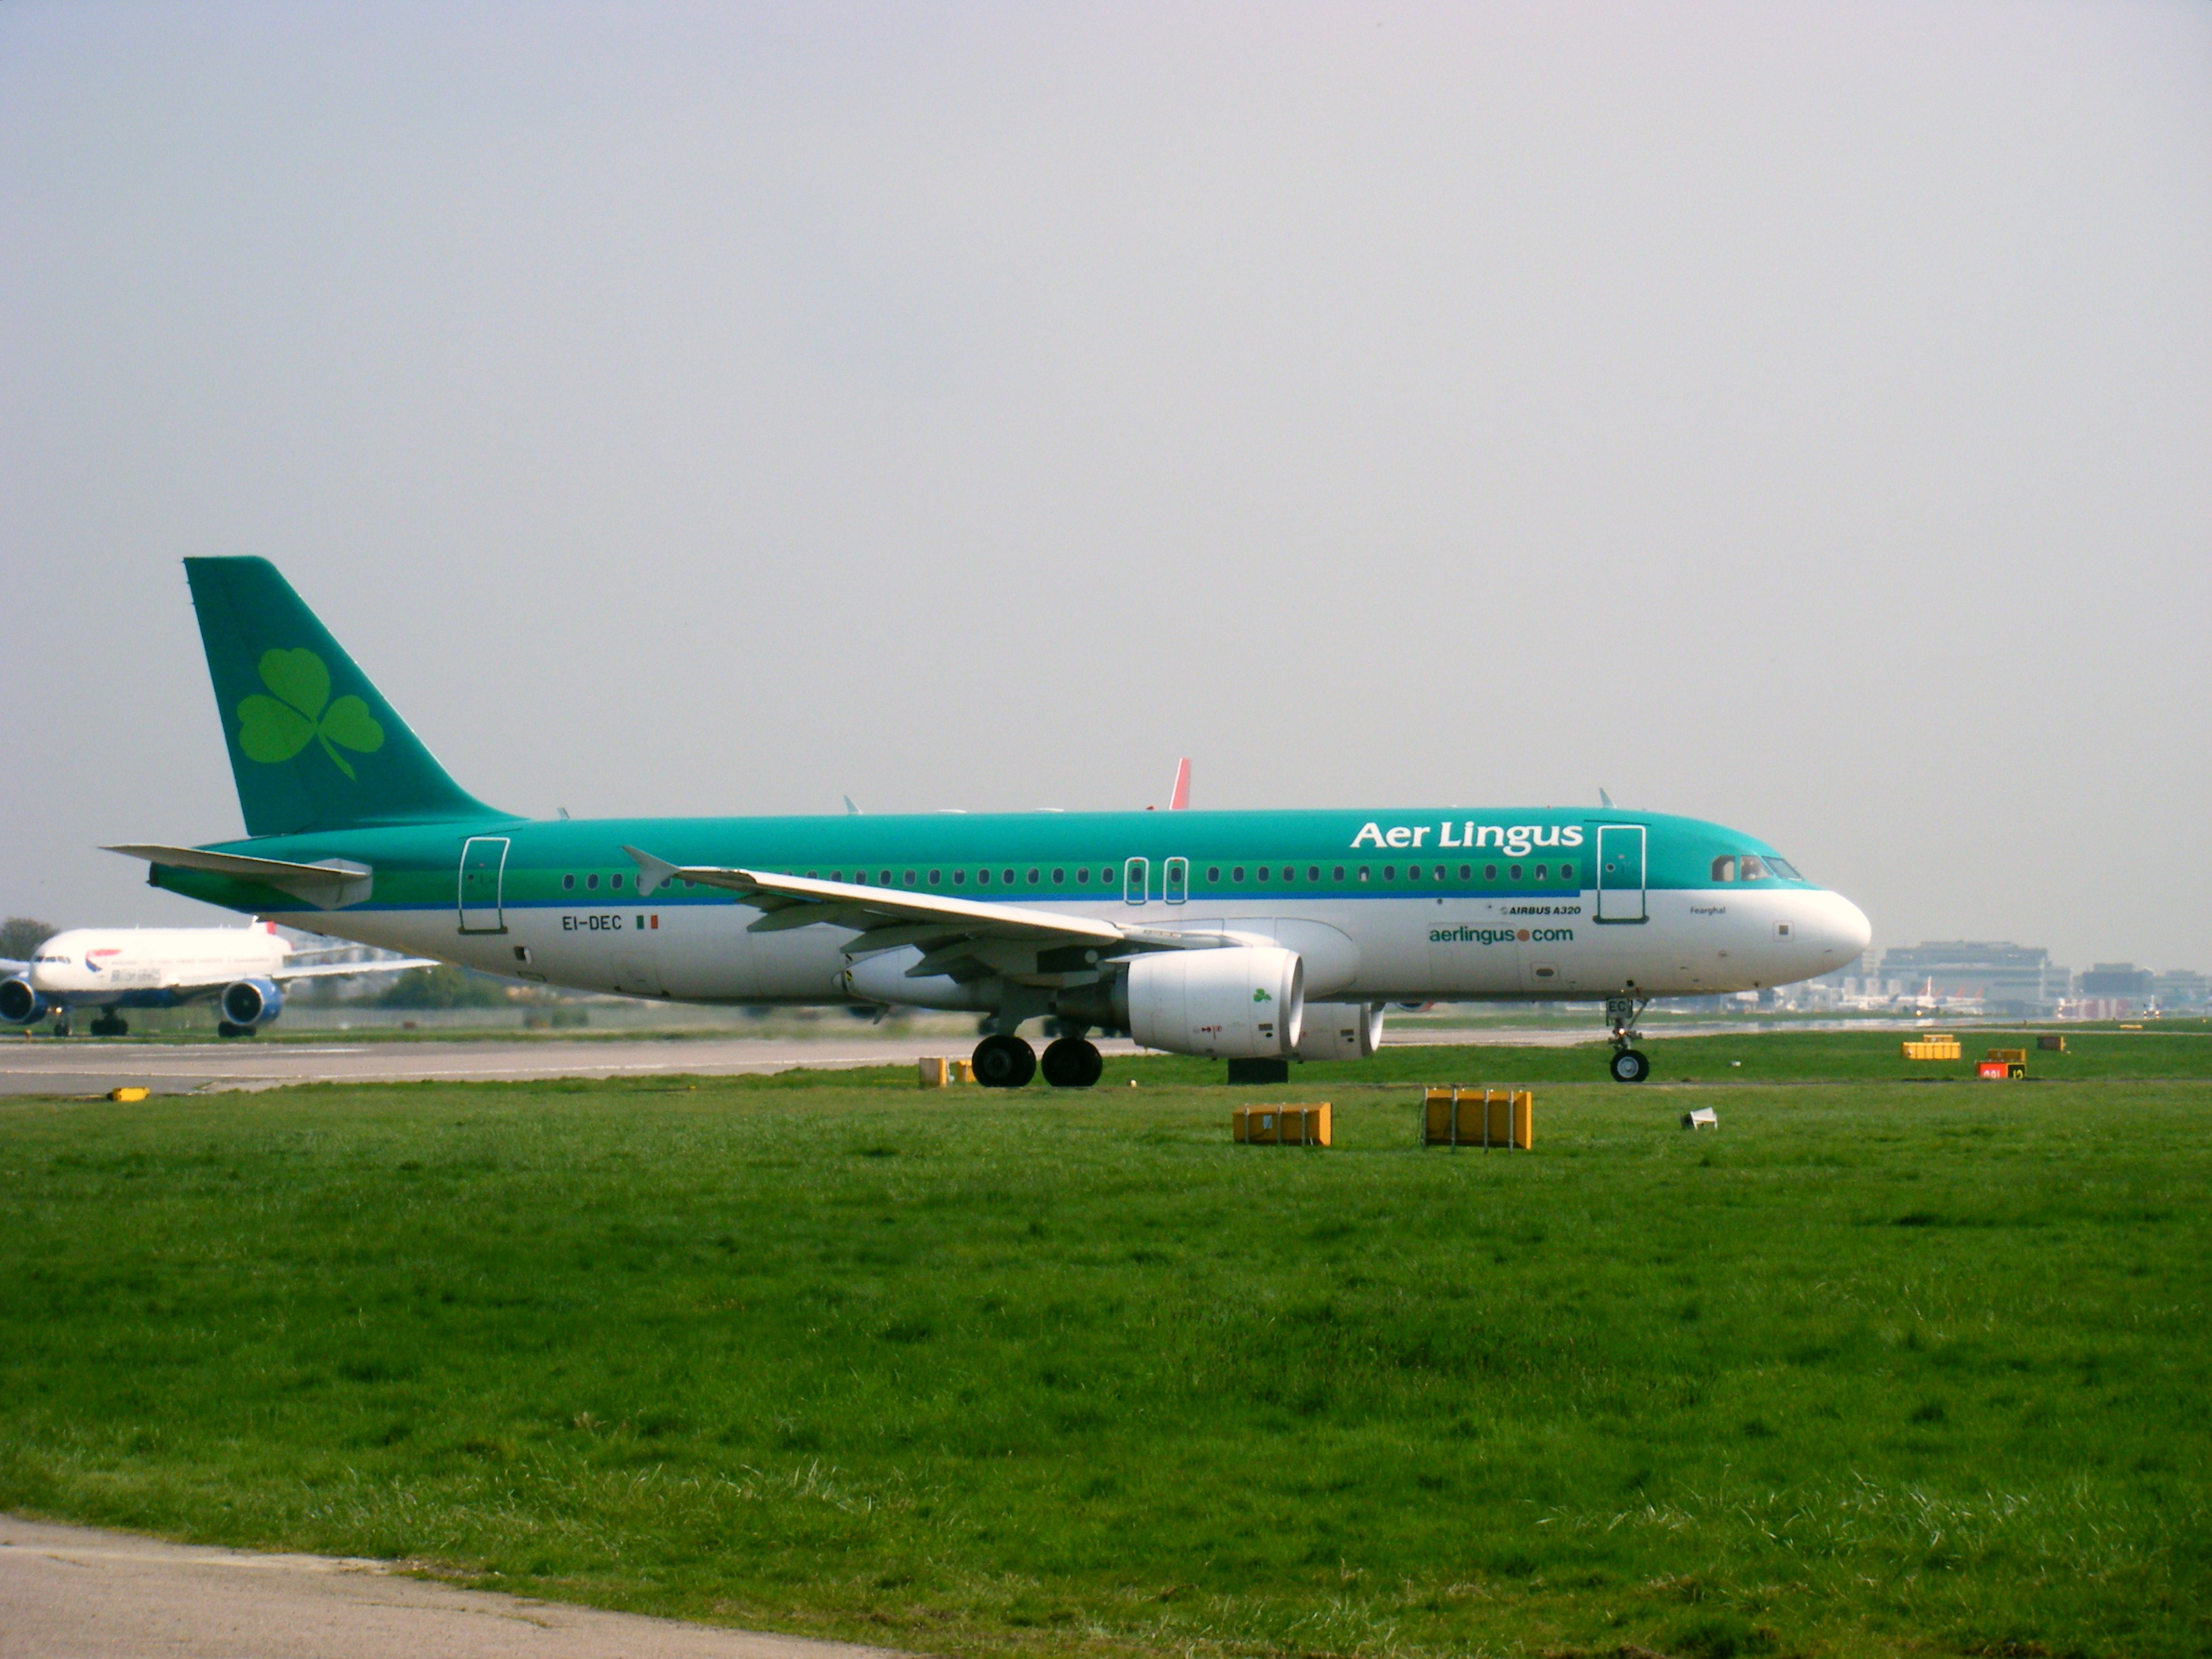
M 907 969 L 909 978 L 949 973 L 956 980 L 980 980 L 991 973 L 1068 973 L 1106 956 L 1243 942 L 1228 933 L 1128 927 L 1095 916 L 1071 916 L 1031 905 L 987 905 L 973 898 L 914 894 L 902 887 L 867 887 L 717 865 L 672 865 L 639 847 L 624 847 L 624 852 L 637 860 L 639 896 L 655 894 L 670 880 L 688 880 L 737 894 L 761 909 L 761 920 L 748 929 L 752 933 L 825 922 L 858 933 L 845 945 L 845 956 L 874 956 L 914 945 L 920 947 L 922 960 Z

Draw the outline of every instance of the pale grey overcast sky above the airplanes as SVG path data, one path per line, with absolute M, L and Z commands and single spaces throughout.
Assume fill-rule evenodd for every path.
M 0 909 L 263 553 L 531 814 L 1595 803 L 2212 969 L 2212 7 L 0 7 Z

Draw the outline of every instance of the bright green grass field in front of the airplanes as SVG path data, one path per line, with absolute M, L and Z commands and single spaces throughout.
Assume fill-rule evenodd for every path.
M 1420 1051 L 1329 1152 L 1183 1062 L 0 1104 L 0 1506 L 929 1652 L 2194 1655 L 2212 1042 L 2073 1046 Z

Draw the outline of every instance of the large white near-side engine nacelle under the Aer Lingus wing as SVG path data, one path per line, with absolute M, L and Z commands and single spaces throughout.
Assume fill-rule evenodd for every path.
M 1305 962 L 1281 945 L 1155 951 L 1121 980 L 1124 1029 L 1146 1048 L 1214 1060 L 1283 1060 L 1298 1046 Z

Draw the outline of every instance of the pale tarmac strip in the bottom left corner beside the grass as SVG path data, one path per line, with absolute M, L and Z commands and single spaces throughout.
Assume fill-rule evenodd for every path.
M 883 1659 L 887 1648 L 456 1590 L 392 1562 L 0 1515 L 0 1659 Z

